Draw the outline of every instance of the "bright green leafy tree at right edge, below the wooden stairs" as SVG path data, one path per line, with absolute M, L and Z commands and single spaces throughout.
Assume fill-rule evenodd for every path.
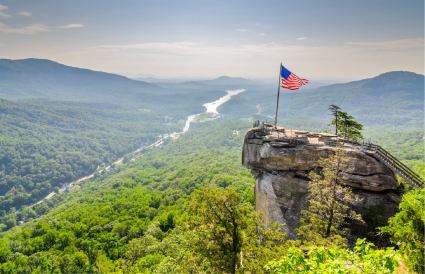
M 391 240 L 404 255 L 409 268 L 425 272 L 425 189 L 415 189 L 404 194 L 400 211 L 382 228 L 391 234 Z

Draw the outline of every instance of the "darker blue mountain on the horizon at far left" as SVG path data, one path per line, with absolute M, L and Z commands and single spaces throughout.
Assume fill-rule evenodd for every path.
M 158 86 L 44 59 L 0 59 L 0 98 L 143 102 Z

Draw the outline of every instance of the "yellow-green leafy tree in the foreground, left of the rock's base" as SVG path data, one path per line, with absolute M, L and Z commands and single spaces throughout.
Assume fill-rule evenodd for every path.
M 257 272 L 279 254 L 281 230 L 263 225 L 252 206 L 243 202 L 236 191 L 197 190 L 191 196 L 189 209 L 194 254 L 201 255 L 200 261 L 206 259 L 212 272 Z

